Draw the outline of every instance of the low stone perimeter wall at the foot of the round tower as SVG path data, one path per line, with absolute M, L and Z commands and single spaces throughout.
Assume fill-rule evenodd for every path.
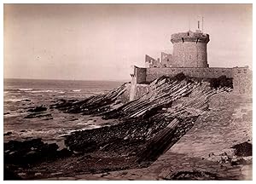
M 183 72 L 191 78 L 232 78 L 233 91 L 238 94 L 252 94 L 253 72 L 248 67 L 210 67 L 210 68 L 139 68 L 134 67 L 134 76 L 131 81 L 132 93 L 130 101 L 142 96 L 150 87 L 148 83 L 162 76 L 173 77 Z

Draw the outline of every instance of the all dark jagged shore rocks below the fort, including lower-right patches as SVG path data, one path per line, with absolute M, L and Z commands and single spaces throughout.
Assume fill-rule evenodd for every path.
M 113 124 L 74 131 L 63 137 L 65 147 L 61 148 L 56 143 L 45 143 L 42 139 L 4 143 L 4 180 L 61 178 L 96 173 L 109 175 L 108 172 L 114 170 L 148 168 L 176 144 L 199 117 L 209 112 L 208 102 L 212 95 L 231 91 L 230 80 L 227 79 L 227 86 L 224 80 L 219 79 L 221 83 L 218 80 L 194 80 L 178 74 L 174 78 L 155 80 L 150 84 L 151 91 L 148 94 L 125 104 L 120 101 L 120 96 L 125 92 L 123 84 L 118 89 L 83 101 L 61 100 L 50 106 L 32 107 L 25 118 L 51 118 L 46 110 L 57 109 L 65 113 L 99 116 L 113 121 Z M 209 156 L 212 160 L 208 160 L 218 165 L 251 164 L 247 158 L 252 155 L 251 147 L 250 142 L 234 145 L 232 155 L 227 152 L 219 157 L 212 154 Z M 164 179 L 227 178 L 207 170 L 176 170 Z

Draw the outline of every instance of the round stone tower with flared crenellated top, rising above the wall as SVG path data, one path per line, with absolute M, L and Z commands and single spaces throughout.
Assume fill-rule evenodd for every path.
M 209 35 L 201 31 L 172 34 L 172 62 L 176 67 L 208 67 L 207 43 Z

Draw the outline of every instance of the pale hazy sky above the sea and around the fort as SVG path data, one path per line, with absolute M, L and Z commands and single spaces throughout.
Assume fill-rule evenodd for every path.
M 204 17 L 212 67 L 250 66 L 250 4 L 4 4 L 4 78 L 130 79 Z

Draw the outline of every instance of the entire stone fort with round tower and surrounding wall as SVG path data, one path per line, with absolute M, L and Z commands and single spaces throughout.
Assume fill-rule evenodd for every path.
M 198 26 L 199 28 L 199 26 Z M 179 32 L 172 34 L 173 53 L 161 53 L 154 59 L 145 56 L 145 67 L 132 66 L 130 101 L 137 99 L 148 90 L 148 83 L 162 76 L 173 77 L 183 73 L 190 78 L 231 78 L 233 91 L 239 94 L 252 93 L 252 71 L 243 67 L 210 67 L 207 62 L 207 43 L 209 34 L 200 28 L 196 32 Z

